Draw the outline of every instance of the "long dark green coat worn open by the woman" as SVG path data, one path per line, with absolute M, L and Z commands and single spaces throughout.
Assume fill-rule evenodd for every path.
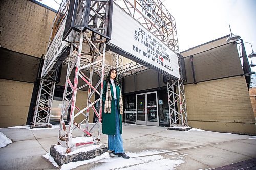
M 106 101 L 106 88 L 108 84 L 106 81 L 103 83 L 103 94 L 102 94 L 102 133 L 106 135 L 115 135 L 116 133 L 116 109 L 115 109 L 115 99 L 113 93 L 113 87 L 110 83 L 111 91 L 111 113 L 104 113 L 104 106 Z M 119 100 L 120 100 L 120 88 L 116 85 L 116 98 L 117 98 L 117 109 L 119 112 Z M 122 115 L 119 113 L 119 123 L 120 123 L 120 134 L 122 134 Z

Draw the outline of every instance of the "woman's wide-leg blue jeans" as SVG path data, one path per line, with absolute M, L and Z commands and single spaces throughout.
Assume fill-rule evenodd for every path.
M 116 133 L 115 135 L 108 135 L 108 147 L 110 151 L 115 151 L 115 153 L 123 153 L 123 139 L 120 134 L 120 124 L 119 124 L 119 111 L 117 109 L 117 101 L 115 99 L 116 107 Z

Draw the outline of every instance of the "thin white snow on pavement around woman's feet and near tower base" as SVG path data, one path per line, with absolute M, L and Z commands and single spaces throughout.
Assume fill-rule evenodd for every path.
M 94 167 L 90 168 L 91 170 L 110 170 L 110 169 L 123 169 L 123 170 L 142 170 L 142 169 L 163 169 L 163 170 L 169 170 L 169 169 L 175 169 L 175 167 L 179 166 L 184 162 L 184 156 L 182 155 L 180 157 L 173 157 L 173 159 L 165 158 L 164 156 L 161 156 L 159 154 L 161 153 L 169 153 L 172 151 L 167 150 L 146 150 L 142 152 L 127 152 L 127 155 L 129 155 L 130 159 L 123 159 L 121 157 L 118 157 L 116 155 L 110 154 L 108 152 L 103 153 L 100 156 L 97 156 L 93 159 L 84 160 L 84 161 L 77 161 L 77 162 L 70 162 L 67 164 L 63 164 L 61 167 L 61 170 L 68 170 L 68 169 L 74 169 L 81 165 L 86 164 L 95 164 Z M 168 155 L 175 155 L 179 154 L 177 152 L 170 153 Z M 55 167 L 57 166 L 57 163 L 53 160 L 51 155 L 47 153 L 46 155 L 43 155 L 46 159 L 48 159 Z

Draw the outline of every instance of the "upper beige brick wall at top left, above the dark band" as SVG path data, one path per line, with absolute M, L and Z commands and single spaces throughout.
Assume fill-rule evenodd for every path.
M 35 57 L 46 54 L 55 15 L 28 0 L 1 1 L 2 47 Z

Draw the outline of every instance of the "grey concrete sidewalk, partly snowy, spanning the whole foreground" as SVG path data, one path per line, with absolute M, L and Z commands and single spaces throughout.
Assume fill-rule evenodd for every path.
M 0 148 L 0 169 L 57 169 L 41 156 L 57 143 L 58 128 L 2 128 L 0 132 L 13 141 Z M 93 133 L 96 132 L 97 129 Z M 73 137 L 82 134 L 79 129 L 73 131 Z M 230 164 L 245 164 L 241 163 L 245 160 L 253 164 L 253 158 L 256 158 L 255 136 L 194 130 L 182 132 L 167 130 L 167 127 L 129 124 L 123 124 L 122 136 L 130 159 L 111 155 L 76 169 L 236 169 L 230 168 Z M 107 145 L 106 135 L 101 136 L 101 141 Z M 254 165 L 250 169 L 255 169 Z

